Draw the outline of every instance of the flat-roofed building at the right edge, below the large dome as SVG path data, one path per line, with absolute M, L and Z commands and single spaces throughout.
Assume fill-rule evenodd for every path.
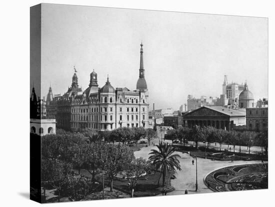
M 248 130 L 263 130 L 268 127 L 268 108 L 246 108 L 246 128 Z

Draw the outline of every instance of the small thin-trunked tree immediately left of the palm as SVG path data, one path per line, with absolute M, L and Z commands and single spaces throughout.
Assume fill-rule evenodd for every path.
M 131 197 L 137 184 L 138 178 L 142 174 L 147 174 L 150 170 L 150 164 L 146 159 L 142 157 L 134 158 L 131 162 L 125 166 L 127 179 L 129 180 L 128 186 L 131 189 Z

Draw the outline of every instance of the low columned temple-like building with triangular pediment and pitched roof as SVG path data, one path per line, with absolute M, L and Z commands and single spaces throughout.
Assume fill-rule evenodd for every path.
M 182 116 L 183 125 L 189 128 L 194 125 L 209 125 L 231 130 L 234 126 L 246 124 L 245 109 L 230 109 L 222 106 L 202 106 Z

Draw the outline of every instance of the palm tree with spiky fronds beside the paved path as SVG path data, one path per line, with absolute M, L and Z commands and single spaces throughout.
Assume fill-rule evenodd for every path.
M 158 150 L 151 149 L 151 152 L 149 153 L 151 154 L 149 156 L 149 161 L 155 165 L 156 169 L 160 169 L 162 174 L 162 186 L 164 186 L 165 176 L 169 169 L 173 172 L 175 172 L 176 169 L 181 170 L 178 160 L 180 156 L 178 154 L 172 154 L 175 152 L 175 148 L 168 143 L 159 143 L 159 145 L 156 146 Z

